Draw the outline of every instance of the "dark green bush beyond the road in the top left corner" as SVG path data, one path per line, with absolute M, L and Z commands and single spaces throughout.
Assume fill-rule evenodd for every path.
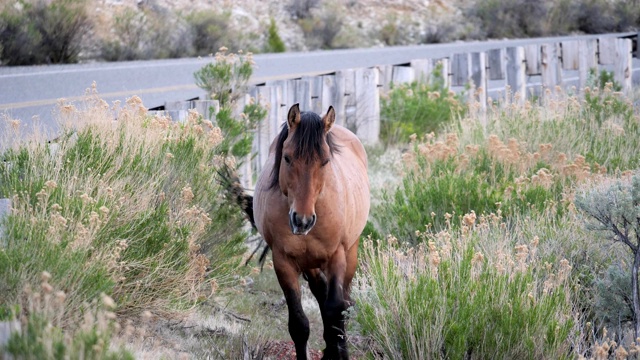
M 85 0 L 18 1 L 0 13 L 0 61 L 74 63 L 91 23 Z

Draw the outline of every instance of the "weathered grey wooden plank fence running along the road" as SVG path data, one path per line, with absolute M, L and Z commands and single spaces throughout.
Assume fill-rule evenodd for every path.
M 303 110 L 317 113 L 324 113 L 332 105 L 338 124 L 353 130 L 363 142 L 375 144 L 380 133 L 380 92 L 388 91 L 391 83 L 427 79 L 436 64 L 442 66 L 446 87 L 459 90 L 473 86 L 481 109 L 486 109 L 487 96 L 492 89 L 504 92 L 508 86 L 512 93 L 519 94 L 516 98 L 524 102 L 526 96 L 539 94 L 544 88 L 568 86 L 565 74 L 571 72 L 577 72 L 577 89 L 582 89 L 587 85 L 590 69 L 613 71 L 622 91 L 629 93 L 632 89 L 632 52 L 635 49 L 636 57 L 640 54 L 638 35 L 577 37 L 571 41 L 456 53 L 445 58 L 415 59 L 405 64 L 340 70 L 258 84 L 252 87 L 250 96 L 267 107 L 268 115 L 256 130 L 253 145 L 256 155 L 243 167 L 244 185 L 253 186 L 253 175 L 262 170 L 269 145 L 284 123 L 286 111 L 295 103 Z M 192 101 L 167 104 L 166 108 L 170 114 L 176 114 L 174 117 L 184 118 L 187 108 L 197 108 L 203 113 L 202 109 L 210 104 Z M 210 118 L 214 120 L 215 115 Z

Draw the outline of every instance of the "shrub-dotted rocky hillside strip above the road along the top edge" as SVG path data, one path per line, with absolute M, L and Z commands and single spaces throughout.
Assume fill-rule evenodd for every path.
M 638 0 L 9 0 L 0 63 L 34 65 L 606 33 Z

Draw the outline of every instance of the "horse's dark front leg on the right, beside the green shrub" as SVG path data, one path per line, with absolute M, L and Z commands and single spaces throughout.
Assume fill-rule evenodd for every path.
M 327 343 L 323 359 L 349 359 L 344 311 L 347 309 L 343 287 L 347 268 L 344 248 L 338 247 L 327 267 L 329 281 L 327 300 L 322 314 L 324 340 Z

